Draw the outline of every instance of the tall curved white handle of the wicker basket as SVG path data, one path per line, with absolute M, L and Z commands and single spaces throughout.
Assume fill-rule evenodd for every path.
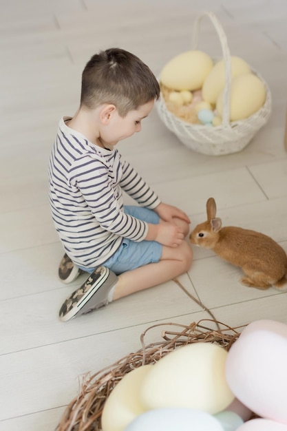
M 222 125 L 224 127 L 230 126 L 230 92 L 231 92 L 231 54 L 228 48 L 226 34 L 222 28 L 220 21 L 218 21 L 217 17 L 213 12 L 204 11 L 202 14 L 196 19 L 195 25 L 193 28 L 193 49 L 198 48 L 198 34 L 200 31 L 200 23 L 204 16 L 209 17 L 211 22 L 214 25 L 214 28 L 219 36 L 220 44 L 223 53 L 224 59 L 224 72 L 225 72 L 225 85 L 222 96 Z

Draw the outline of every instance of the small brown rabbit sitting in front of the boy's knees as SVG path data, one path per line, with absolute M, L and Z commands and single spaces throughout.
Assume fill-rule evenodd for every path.
M 192 244 L 213 250 L 227 262 L 240 266 L 245 273 L 242 284 L 266 289 L 287 283 L 287 256 L 279 244 L 263 233 L 240 227 L 222 227 L 216 218 L 213 198 L 206 202 L 207 221 L 198 224 L 189 235 Z

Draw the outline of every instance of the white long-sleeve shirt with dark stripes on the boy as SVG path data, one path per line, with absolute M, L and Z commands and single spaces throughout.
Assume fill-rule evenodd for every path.
M 142 207 L 160 204 L 118 150 L 103 149 L 62 118 L 49 164 L 50 207 L 56 231 L 75 264 L 103 264 L 123 238 L 145 239 L 147 223 L 123 211 L 123 192 Z

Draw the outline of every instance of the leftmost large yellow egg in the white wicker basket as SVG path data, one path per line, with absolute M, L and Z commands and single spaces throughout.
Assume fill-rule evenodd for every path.
M 198 90 L 212 67 L 213 60 L 205 52 L 182 52 L 163 67 L 160 81 L 171 90 Z

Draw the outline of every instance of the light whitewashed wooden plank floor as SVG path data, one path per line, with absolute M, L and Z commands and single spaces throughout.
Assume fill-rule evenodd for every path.
M 59 118 L 78 105 L 81 71 L 100 49 L 119 46 L 159 74 L 191 49 L 193 20 L 213 10 L 231 53 L 264 76 L 273 115 L 239 154 L 209 157 L 184 147 L 156 111 L 142 132 L 118 145 L 159 193 L 186 211 L 193 227 L 217 200 L 224 224 L 256 229 L 287 251 L 286 0 L 1 0 L 0 3 L 0 430 L 50 431 L 77 393 L 78 376 L 140 348 L 154 322 L 208 317 L 173 282 L 120 299 L 63 324 L 57 314 L 83 281 L 57 279 L 61 244 L 47 202 L 47 162 Z M 211 23 L 200 48 L 221 56 Z M 231 326 L 255 319 L 287 323 L 287 294 L 239 284 L 240 271 L 195 249 L 180 281 Z M 151 339 L 159 339 L 160 331 Z

